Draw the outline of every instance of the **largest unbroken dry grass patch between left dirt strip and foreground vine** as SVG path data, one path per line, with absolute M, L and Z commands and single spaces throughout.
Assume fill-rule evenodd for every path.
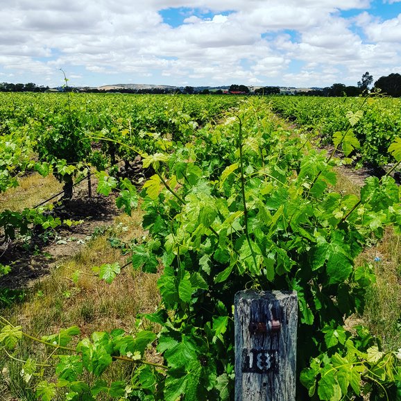
M 89 241 L 87 247 L 54 268 L 49 278 L 38 282 L 33 296 L 13 314 L 37 336 L 70 325 L 78 325 L 85 335 L 116 327 L 132 330 L 135 316 L 153 312 L 160 300 L 157 275 L 127 266 L 112 284 L 107 284 L 99 280 L 92 267 L 116 261 L 120 266 L 126 264 L 127 257 L 112 248 L 109 239 L 118 237 L 126 242 L 143 235 L 139 222 L 139 213 L 117 218 L 114 228 Z M 80 273 L 74 282 L 71 277 L 77 271 Z

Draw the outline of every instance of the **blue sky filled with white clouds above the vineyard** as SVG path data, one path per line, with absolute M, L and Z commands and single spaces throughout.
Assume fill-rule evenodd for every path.
M 0 0 L 0 82 L 356 85 L 401 74 L 401 0 Z

